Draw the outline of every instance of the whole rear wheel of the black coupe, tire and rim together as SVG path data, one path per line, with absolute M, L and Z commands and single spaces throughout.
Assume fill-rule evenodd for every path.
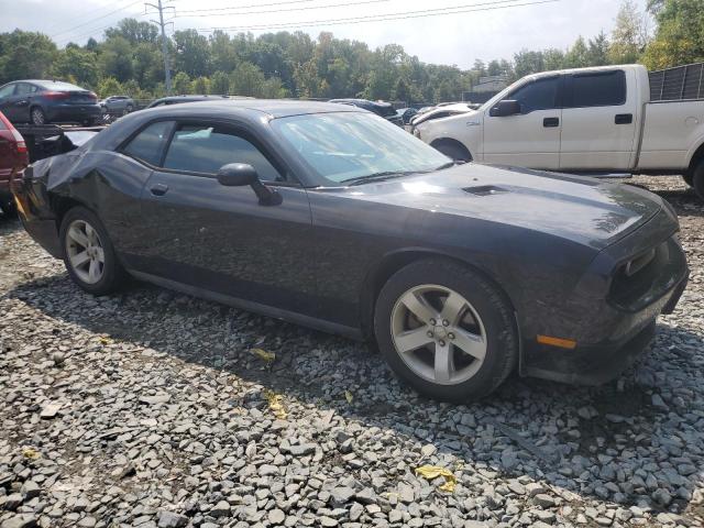
M 74 228 L 82 238 L 75 238 Z M 122 286 L 127 274 L 116 256 L 106 228 L 92 211 L 85 207 L 70 209 L 62 220 L 59 241 L 66 271 L 79 287 L 92 295 L 107 295 Z M 86 242 L 90 245 L 85 245 Z M 82 257 L 76 258 L 79 254 Z M 76 265 L 76 261 L 82 263 Z M 94 266 L 97 266 L 97 273 L 94 273 Z

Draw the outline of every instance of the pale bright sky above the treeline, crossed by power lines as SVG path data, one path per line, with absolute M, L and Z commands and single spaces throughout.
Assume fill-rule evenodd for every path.
M 461 68 L 471 67 L 477 58 L 510 59 L 524 48 L 566 48 L 579 35 L 590 37 L 602 30 L 608 34 L 620 3 L 619 0 L 164 1 L 174 8 L 165 11 L 173 22 L 169 32 L 197 28 L 207 35 L 212 28 L 252 28 L 256 35 L 285 29 L 301 30 L 315 37 L 321 31 L 331 31 L 336 37 L 363 41 L 372 48 L 400 44 L 406 53 L 426 63 L 454 64 Z M 646 0 L 636 3 L 645 9 Z M 145 14 L 145 9 L 151 13 Z M 428 10 L 441 10 L 444 14 L 431 15 Z M 0 0 L 0 32 L 19 28 L 46 33 L 59 46 L 70 41 L 85 44 L 89 36 L 100 40 L 106 26 L 122 18 L 156 19 L 153 11 L 135 0 Z M 369 21 L 381 15 L 397 19 Z

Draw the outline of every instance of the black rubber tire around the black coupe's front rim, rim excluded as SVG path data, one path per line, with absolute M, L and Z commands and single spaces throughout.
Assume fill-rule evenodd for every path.
M 450 288 L 471 302 L 486 333 L 486 355 L 479 371 L 453 385 L 433 383 L 416 374 L 394 345 L 394 306 L 410 288 L 428 283 Z M 414 262 L 388 279 L 376 300 L 374 333 L 392 370 L 419 393 L 439 400 L 466 403 L 488 395 L 508 377 L 518 360 L 518 332 L 506 296 L 479 273 L 446 258 Z

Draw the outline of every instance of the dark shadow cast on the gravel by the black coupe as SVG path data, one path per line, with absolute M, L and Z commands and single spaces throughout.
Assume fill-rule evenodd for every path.
M 575 387 L 513 376 L 482 402 L 450 405 L 399 384 L 365 344 L 150 285 L 132 284 L 119 295 L 95 299 L 62 273 L 25 282 L 4 297 L 130 348 L 148 346 L 216 375 L 255 383 L 262 393 L 273 391 L 284 400 L 432 444 L 438 457 L 453 454 L 508 477 L 527 474 L 582 497 L 605 499 L 607 490 L 609 499 L 625 506 L 642 506 L 653 490 L 630 486 L 630 493 L 614 495 L 605 484 L 624 483 L 624 475 L 640 475 L 667 462 L 674 441 L 670 437 L 682 444 L 680 439 L 696 427 L 695 418 L 672 420 L 669 411 L 685 415 L 697 407 L 704 391 L 691 389 L 701 387 L 698 378 L 683 378 L 700 370 L 681 367 L 704 350 L 704 340 L 676 326 L 678 312 L 659 324 L 651 352 L 613 383 Z M 194 329 L 193 339 L 188 329 Z M 252 353 L 254 348 L 273 352 L 275 361 L 264 363 Z M 682 386 L 689 391 L 679 391 Z M 653 405 L 656 400 L 667 407 Z M 255 394 L 241 405 L 265 410 L 267 404 L 263 394 Z M 694 452 L 703 448 L 696 446 Z M 601 463 L 597 455 L 610 462 Z M 670 465 L 678 471 L 676 463 Z M 691 514 L 691 492 L 702 485 L 703 469 L 696 470 L 680 475 L 690 495 L 676 496 L 673 490 L 673 502 L 664 509 Z

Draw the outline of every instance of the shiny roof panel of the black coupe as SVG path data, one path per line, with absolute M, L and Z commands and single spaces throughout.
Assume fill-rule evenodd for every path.
M 273 119 L 306 113 L 364 111 L 358 107 L 331 102 L 296 101 L 289 99 L 212 99 L 194 103 L 186 102 L 177 106 L 157 107 L 148 109 L 148 111 L 187 116 L 188 113 L 193 113 L 190 112 L 191 109 L 198 110 L 198 113 L 201 114 L 221 114 L 221 112 L 232 112 L 235 114 L 263 113 Z

